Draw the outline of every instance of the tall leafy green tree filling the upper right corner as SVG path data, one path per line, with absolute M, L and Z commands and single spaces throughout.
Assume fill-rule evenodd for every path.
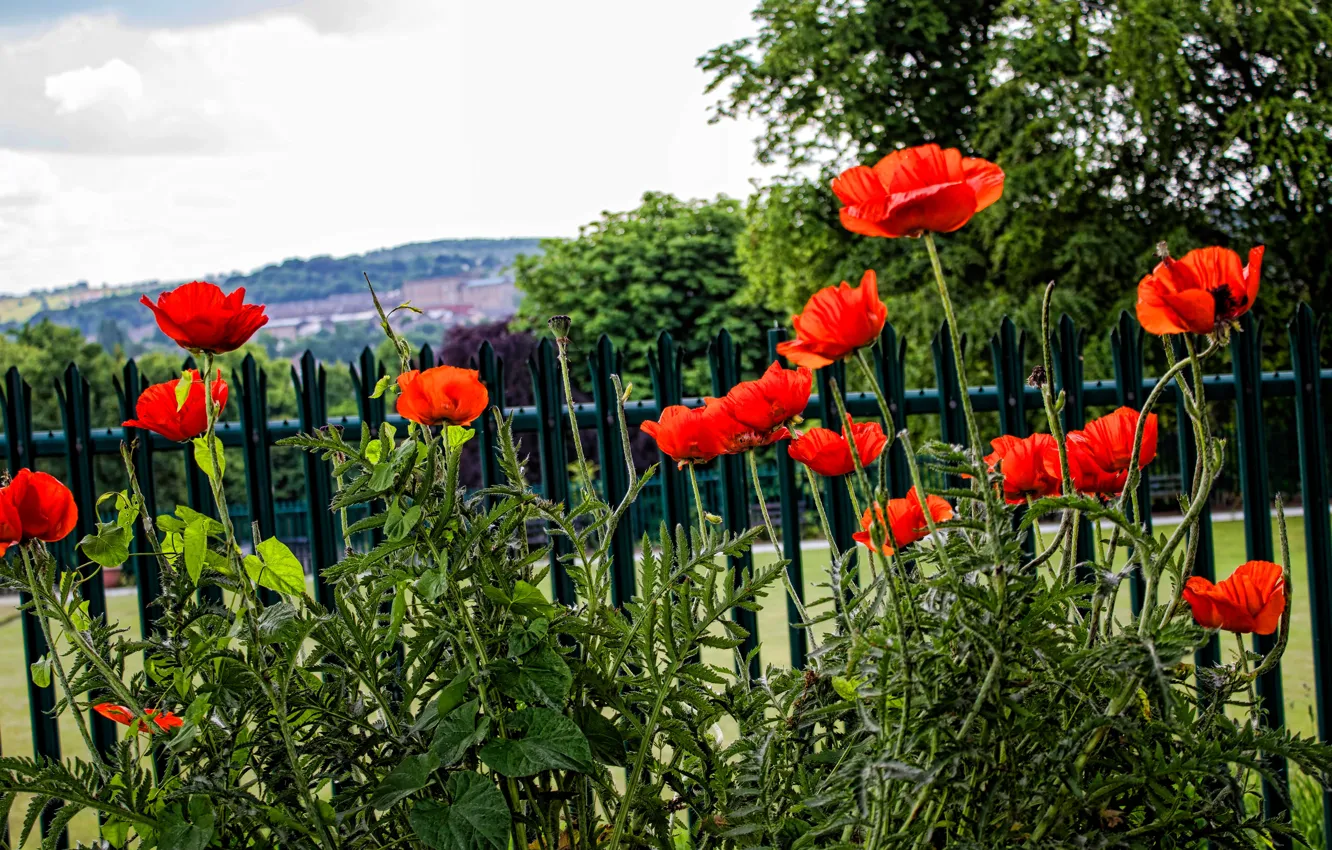
M 928 141 L 1008 176 L 999 204 L 942 240 L 976 330 L 998 308 L 1030 314 L 1048 280 L 1102 330 L 1162 240 L 1265 242 L 1269 292 L 1332 285 L 1332 15 L 1311 0 L 762 0 L 755 19 L 757 36 L 699 63 L 717 116 L 763 121 L 758 157 L 790 172 L 746 208 L 759 302 L 793 308 L 863 268 L 888 293 L 927 286 L 906 240 L 838 225 L 827 181 Z

